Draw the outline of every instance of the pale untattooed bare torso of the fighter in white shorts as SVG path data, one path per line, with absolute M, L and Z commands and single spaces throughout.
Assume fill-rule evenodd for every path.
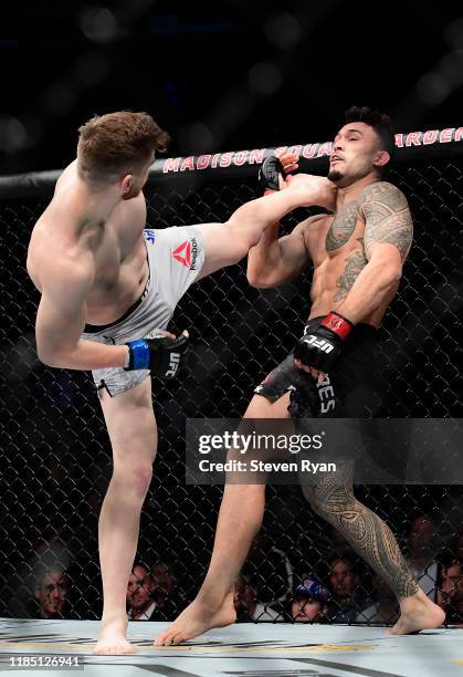
M 50 267 L 59 267 L 65 287 L 67 267 L 90 265 L 94 277 L 85 299 L 86 322 L 114 322 L 139 299 L 148 279 L 145 223 L 143 194 L 118 202 L 104 222 L 88 216 L 73 163 L 60 177 L 52 201 L 35 223 L 28 272 L 42 291 L 41 280 Z

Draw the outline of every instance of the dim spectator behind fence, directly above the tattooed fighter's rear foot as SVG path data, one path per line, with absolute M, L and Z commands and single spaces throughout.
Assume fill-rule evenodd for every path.
M 435 524 L 430 515 L 417 514 L 409 524 L 406 558 L 421 590 L 435 602 L 439 563 Z

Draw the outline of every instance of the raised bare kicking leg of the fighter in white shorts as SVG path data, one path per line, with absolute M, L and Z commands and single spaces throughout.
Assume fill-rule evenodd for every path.
M 206 263 L 198 280 L 219 268 L 238 263 L 266 228 L 296 207 L 311 205 L 314 205 L 313 188 L 301 180 L 280 192 L 245 202 L 225 223 L 198 226 L 206 247 Z

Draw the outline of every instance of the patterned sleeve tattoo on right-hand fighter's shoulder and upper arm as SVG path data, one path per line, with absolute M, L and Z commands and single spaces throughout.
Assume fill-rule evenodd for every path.
M 388 242 L 397 247 L 403 262 L 413 239 L 413 221 L 401 190 L 386 181 L 373 184 L 365 191 L 360 210 L 366 220 L 367 257 L 373 244 Z

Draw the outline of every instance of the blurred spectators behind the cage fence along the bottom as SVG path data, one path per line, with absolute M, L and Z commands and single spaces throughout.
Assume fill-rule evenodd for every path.
M 338 532 L 330 531 L 334 550 L 327 560 L 315 562 L 291 562 L 263 532 L 257 534 L 235 583 L 238 622 L 393 624 L 399 606 L 392 592 Z M 424 593 L 445 610 L 446 623 L 463 624 L 463 529 L 445 548 L 441 545 L 432 515 L 413 515 L 407 531 L 407 561 Z M 7 604 L 3 614 L 82 617 L 78 600 L 94 595 L 96 589 L 85 591 L 74 585 L 72 562 L 65 551 L 55 562 L 51 560 L 53 546 L 45 552 L 45 561 L 39 562 L 29 576 L 15 577 L 10 586 L 12 604 Z M 22 597 L 17 595 L 20 590 Z M 175 563 L 136 561 L 127 585 L 130 621 L 171 621 L 189 601 Z

